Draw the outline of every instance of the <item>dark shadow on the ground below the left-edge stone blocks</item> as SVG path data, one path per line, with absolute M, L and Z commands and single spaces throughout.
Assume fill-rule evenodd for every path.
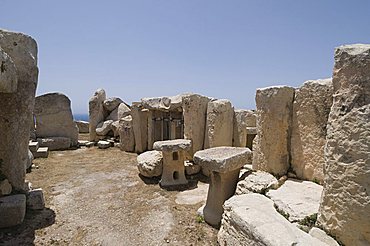
M 27 210 L 22 224 L 0 229 L 0 245 L 35 245 L 35 231 L 55 223 L 55 212 L 49 208 Z

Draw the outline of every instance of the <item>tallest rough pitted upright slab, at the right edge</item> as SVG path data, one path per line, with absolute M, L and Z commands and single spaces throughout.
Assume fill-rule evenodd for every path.
M 345 245 L 369 245 L 370 45 L 336 49 L 333 87 L 318 222 Z

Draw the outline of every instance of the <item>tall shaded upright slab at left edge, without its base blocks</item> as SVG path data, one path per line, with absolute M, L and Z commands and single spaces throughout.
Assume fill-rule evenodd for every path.
M 30 119 L 38 77 L 37 44 L 28 35 L 0 30 L 0 48 L 2 55 L 5 52 L 13 61 L 18 79 L 16 91 L 13 91 L 14 74 L 9 75 L 13 82 L 6 81 L 12 84 L 7 87 L 10 90 L 7 89 L 6 93 L 4 89 L 0 91 L 0 173 L 7 177 L 13 188 L 23 189 L 28 162 Z M 11 69 L 11 64 L 7 64 L 9 66 L 6 69 Z M 11 70 L 8 71 L 10 73 Z

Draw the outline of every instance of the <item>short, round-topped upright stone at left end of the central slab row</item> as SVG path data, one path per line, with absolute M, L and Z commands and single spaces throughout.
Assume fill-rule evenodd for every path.
M 127 152 L 135 151 L 135 136 L 132 126 L 132 116 L 126 116 L 119 121 L 120 149 Z

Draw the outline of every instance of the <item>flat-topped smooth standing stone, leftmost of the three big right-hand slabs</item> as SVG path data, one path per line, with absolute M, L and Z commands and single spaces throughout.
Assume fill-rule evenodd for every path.
M 294 88 L 257 89 L 257 146 L 253 169 L 283 176 L 289 169 L 290 127 Z

